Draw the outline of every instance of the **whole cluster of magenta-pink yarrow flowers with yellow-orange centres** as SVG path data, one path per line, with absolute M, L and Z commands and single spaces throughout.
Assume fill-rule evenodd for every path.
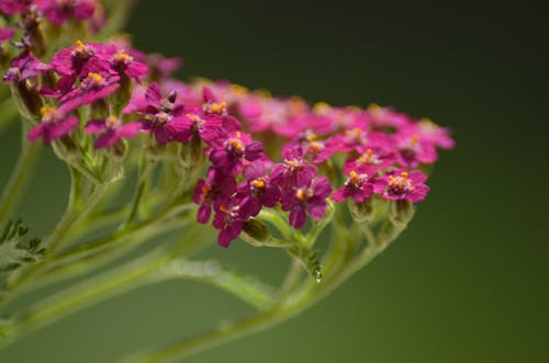
M 92 0 L 0 1 L 5 14 L 35 14 L 57 26 L 68 20 L 96 26 L 99 7 Z M 421 170 L 437 160 L 437 149 L 453 147 L 447 128 L 389 107 L 310 105 L 229 82 L 180 82 L 171 78 L 178 59 L 145 55 L 123 38 L 78 41 L 43 63 L 36 32 L 23 27 L 24 44 L 3 79 L 34 121 L 29 139 L 83 145 L 91 137 L 94 149 L 111 149 L 142 134 L 147 146 L 203 152 L 209 162 L 193 193 L 198 222 L 209 223 L 213 212 L 225 247 L 262 208 L 288 212 L 289 224 L 303 228 L 307 217 L 324 218 L 329 198 L 421 202 L 429 191 Z M 0 30 L 0 42 L 14 34 Z

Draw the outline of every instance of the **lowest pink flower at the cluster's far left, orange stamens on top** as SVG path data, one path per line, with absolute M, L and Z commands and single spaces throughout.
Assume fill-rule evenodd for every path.
M 68 135 L 78 127 L 76 116 L 65 117 L 55 107 L 42 107 L 41 113 L 42 122 L 31 128 L 26 135 L 31 141 L 42 138 L 44 145 L 49 145 L 53 140 Z

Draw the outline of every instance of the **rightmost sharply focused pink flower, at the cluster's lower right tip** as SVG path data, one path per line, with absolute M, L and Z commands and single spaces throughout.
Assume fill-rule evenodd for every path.
M 429 192 L 429 186 L 425 185 L 427 175 L 419 170 L 407 172 L 396 170 L 383 175 L 376 185 L 376 192 L 390 201 L 410 201 L 417 203 L 423 201 Z

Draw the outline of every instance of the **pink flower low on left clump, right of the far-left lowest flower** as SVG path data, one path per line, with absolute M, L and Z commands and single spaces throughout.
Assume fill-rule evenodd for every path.
M 96 149 L 104 149 L 114 146 L 121 138 L 132 138 L 141 131 L 139 123 L 122 124 L 115 116 L 105 120 L 91 120 L 86 125 L 87 134 L 100 134 L 96 139 Z

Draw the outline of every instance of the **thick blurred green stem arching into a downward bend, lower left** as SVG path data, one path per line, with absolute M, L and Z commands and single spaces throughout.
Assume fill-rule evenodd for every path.
M 195 229 L 197 230 L 197 229 Z M 192 235 L 192 232 L 191 232 Z M 186 236 L 197 239 L 198 236 Z M 172 279 L 195 280 L 227 291 L 257 308 L 272 302 L 273 290 L 257 280 L 225 271 L 215 261 L 178 259 L 186 243 L 175 243 L 93 276 L 36 304 L 29 313 L 15 317 L 7 327 L 12 343 L 16 339 L 53 324 L 63 317 L 137 287 Z

